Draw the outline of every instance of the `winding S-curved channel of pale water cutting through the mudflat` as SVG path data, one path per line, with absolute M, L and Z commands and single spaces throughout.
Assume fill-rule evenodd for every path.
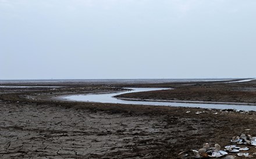
M 145 92 L 145 91 L 158 91 L 169 88 L 127 88 L 133 89 L 133 91 L 125 91 L 118 93 L 101 93 L 101 94 L 89 94 L 89 95 L 72 95 L 65 96 L 62 99 L 73 100 L 80 102 L 97 102 L 97 103 L 120 103 L 120 104 L 142 104 L 151 106 L 175 106 L 175 107 L 200 107 L 205 109 L 235 109 L 244 111 L 256 111 L 256 106 L 248 106 L 244 104 L 216 104 L 216 103 L 182 103 L 181 102 L 152 102 L 152 101 L 134 101 L 116 99 L 113 96 L 121 95 L 123 93 Z

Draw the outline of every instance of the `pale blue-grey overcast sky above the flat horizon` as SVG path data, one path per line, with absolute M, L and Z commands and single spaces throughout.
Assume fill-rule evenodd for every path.
M 256 77 L 255 0 L 0 0 L 0 80 Z

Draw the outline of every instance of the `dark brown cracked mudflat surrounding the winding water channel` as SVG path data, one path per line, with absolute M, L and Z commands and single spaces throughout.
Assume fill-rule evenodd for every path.
M 1 158 L 177 158 L 181 151 L 198 150 L 203 143 L 224 147 L 240 133 L 256 136 L 254 111 L 56 99 L 61 95 L 116 92 L 125 86 L 138 86 L 175 89 L 122 97 L 255 103 L 254 81 L 47 85 L 63 87 L 0 88 Z M 256 152 L 249 147 L 248 153 Z

